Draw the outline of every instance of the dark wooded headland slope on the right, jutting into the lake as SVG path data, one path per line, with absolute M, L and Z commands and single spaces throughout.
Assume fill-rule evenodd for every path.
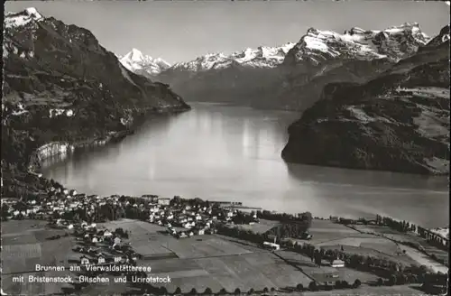
M 333 83 L 290 125 L 287 162 L 449 173 L 449 27 L 363 84 Z M 437 42 L 440 41 L 440 42 Z

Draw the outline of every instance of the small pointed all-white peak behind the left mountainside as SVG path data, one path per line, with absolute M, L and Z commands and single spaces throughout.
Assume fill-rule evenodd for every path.
M 125 54 L 124 57 L 119 56 L 118 59 L 126 69 L 149 78 L 170 68 L 170 63 L 167 61 L 160 58 L 153 59 L 151 56 L 143 55 L 141 51 L 136 49 Z

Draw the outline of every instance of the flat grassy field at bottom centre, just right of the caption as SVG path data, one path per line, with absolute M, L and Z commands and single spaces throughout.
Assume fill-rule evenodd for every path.
M 152 262 L 152 274 L 164 277 L 170 275 L 171 284 L 166 288 L 188 292 L 192 288 L 205 291 L 209 287 L 217 292 L 262 290 L 264 287 L 296 286 L 308 284 L 308 277 L 276 255 L 261 253 L 226 255 L 198 259 L 171 259 Z

